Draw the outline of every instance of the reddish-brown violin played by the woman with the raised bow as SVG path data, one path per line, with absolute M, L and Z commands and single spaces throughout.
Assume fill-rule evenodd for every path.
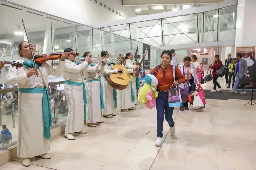
M 69 54 L 74 55 L 74 56 L 79 56 L 79 53 L 71 53 L 69 52 Z M 40 54 L 38 56 L 35 56 L 35 62 L 37 64 L 42 64 L 44 62 L 47 62 L 49 60 L 58 60 L 61 58 L 61 52 L 59 53 L 50 53 L 50 54 Z

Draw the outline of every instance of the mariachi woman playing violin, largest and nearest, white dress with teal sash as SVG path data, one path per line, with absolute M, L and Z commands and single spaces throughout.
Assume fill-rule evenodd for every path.
M 22 164 L 29 166 L 30 157 L 51 158 L 47 152 L 50 150 L 52 117 L 46 87 L 48 87 L 49 75 L 61 76 L 68 53 L 61 53 L 57 68 L 53 68 L 46 62 L 40 66 L 36 64 L 37 68 L 34 68 L 32 57 L 34 57 L 35 49 L 33 45 L 24 41 L 19 44 L 18 49 L 21 59 L 16 62 L 23 63 L 23 67 L 18 69 L 10 67 L 6 83 L 8 85 L 18 84 L 17 157 L 24 158 Z

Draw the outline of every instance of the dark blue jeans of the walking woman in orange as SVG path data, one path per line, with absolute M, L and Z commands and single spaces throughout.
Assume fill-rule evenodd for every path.
M 168 122 L 169 126 L 170 127 L 174 126 L 173 109 L 174 109 L 173 107 L 171 107 L 171 108 L 169 107 L 167 91 L 158 91 L 158 97 L 156 98 L 157 137 L 160 137 L 160 138 L 163 137 L 164 116 L 165 116 L 165 120 Z

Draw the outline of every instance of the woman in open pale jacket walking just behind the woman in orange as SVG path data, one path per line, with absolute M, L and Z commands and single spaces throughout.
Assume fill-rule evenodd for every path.
M 183 59 L 183 63 L 179 65 L 179 69 L 185 76 L 185 81 L 189 84 L 189 92 L 194 91 L 195 84 L 200 84 L 200 82 L 196 75 L 195 65 L 191 63 L 191 58 L 185 57 Z M 182 101 L 182 106 L 180 109 L 184 111 L 184 108 L 185 110 L 188 110 L 188 100 Z

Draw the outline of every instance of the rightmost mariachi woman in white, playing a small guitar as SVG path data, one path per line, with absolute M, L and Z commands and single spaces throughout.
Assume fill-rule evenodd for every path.
M 141 67 L 140 66 L 134 66 L 134 61 L 133 61 L 133 55 L 132 55 L 132 53 L 126 53 L 126 55 L 125 55 L 125 59 L 126 59 L 126 66 L 129 68 L 129 69 L 139 69 L 139 70 L 141 70 Z M 145 60 L 145 57 L 143 57 L 142 58 L 142 60 Z M 141 60 L 139 61 L 139 62 L 141 62 Z M 131 84 L 132 84 L 132 90 L 133 90 L 133 92 L 134 92 L 134 97 L 135 97 L 135 104 L 137 104 L 137 92 L 138 92 L 138 90 L 139 90 L 139 77 L 134 77 L 133 79 L 132 79 L 132 82 L 131 82 Z M 129 108 L 130 110 L 131 109 L 135 109 L 135 107 L 132 107 L 132 108 Z M 125 110 L 125 111 L 128 111 L 128 110 Z

